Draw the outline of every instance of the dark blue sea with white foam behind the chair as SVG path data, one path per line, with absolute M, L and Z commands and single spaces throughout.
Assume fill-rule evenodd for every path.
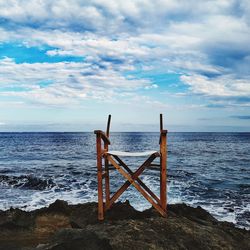
M 112 133 L 112 149 L 158 149 L 158 133 Z M 250 133 L 169 133 L 168 201 L 202 206 L 250 228 Z M 136 167 L 144 158 L 124 159 Z M 97 201 L 93 133 L 0 133 L 0 209 L 32 210 L 56 199 Z M 111 185 L 124 180 L 112 172 Z M 156 193 L 159 172 L 142 180 Z M 121 197 L 150 207 L 134 188 Z

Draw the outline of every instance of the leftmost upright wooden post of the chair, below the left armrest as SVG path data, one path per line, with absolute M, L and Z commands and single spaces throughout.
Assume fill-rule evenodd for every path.
M 98 183 L 98 219 L 103 220 L 103 188 L 102 188 L 102 144 L 101 135 L 96 134 L 96 159 L 97 159 L 97 183 Z

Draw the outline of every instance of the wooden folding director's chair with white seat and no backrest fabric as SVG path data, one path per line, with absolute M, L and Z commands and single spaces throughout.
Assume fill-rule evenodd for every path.
M 109 129 L 111 115 L 108 117 L 106 133 L 101 130 L 95 130 L 96 134 L 96 152 L 97 152 L 97 178 L 98 178 L 98 219 L 104 219 L 104 213 L 121 194 L 130 186 L 133 185 L 164 217 L 167 212 L 167 130 L 163 129 L 163 118 L 160 114 L 160 151 L 146 152 L 121 152 L 109 151 Z M 133 172 L 123 160 L 122 156 L 147 156 L 146 161 Z M 160 157 L 160 164 L 152 162 Z M 159 166 L 160 170 L 160 197 L 157 197 L 139 178 L 143 171 L 150 166 Z M 125 183 L 111 196 L 109 171 L 117 170 L 125 179 Z M 103 185 L 103 179 L 105 183 Z M 104 189 L 104 190 L 103 190 Z M 104 191 L 104 192 L 103 192 Z M 104 199 L 105 197 L 105 199 Z

